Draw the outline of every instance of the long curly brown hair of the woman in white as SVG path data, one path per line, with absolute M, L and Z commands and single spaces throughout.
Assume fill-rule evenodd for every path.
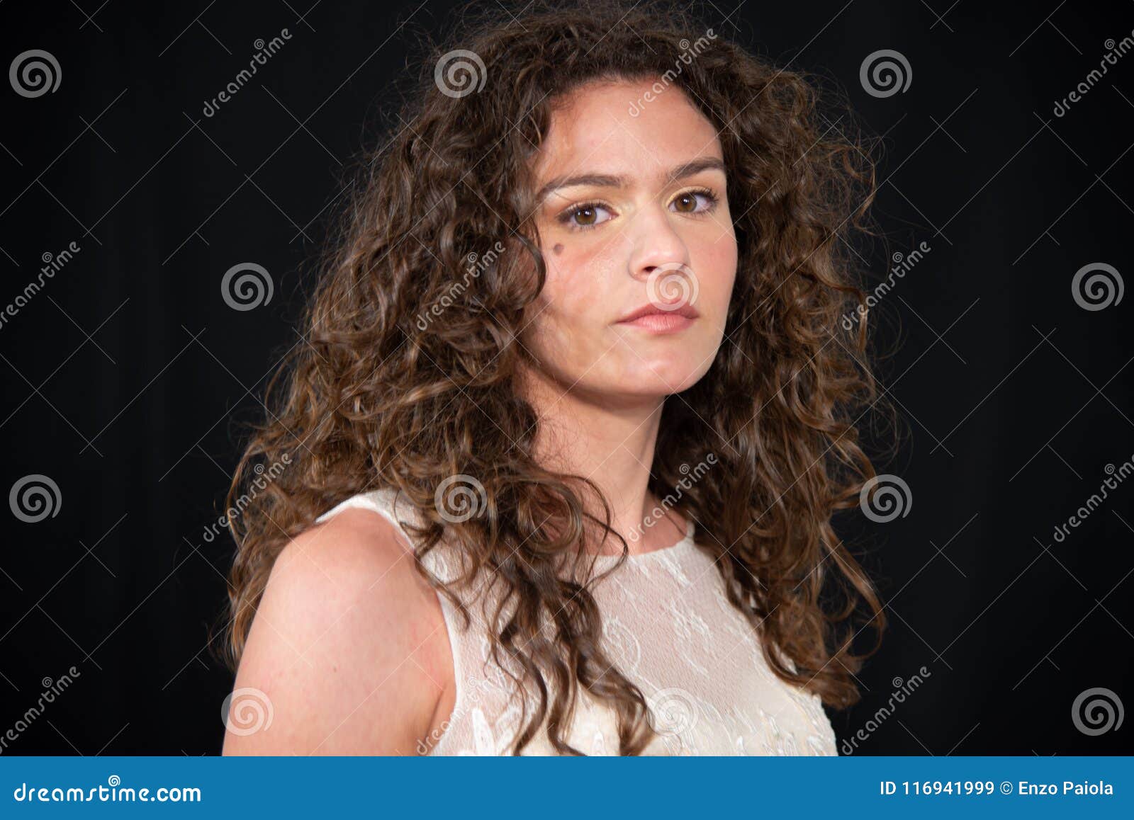
M 848 254 L 850 239 L 873 234 L 863 139 L 822 118 L 819 83 L 687 10 L 491 6 L 448 48 L 431 48 L 396 134 L 359 157 L 304 341 L 269 382 L 266 419 L 227 498 L 242 511 L 229 522 L 227 661 L 237 667 L 288 540 L 352 495 L 398 488 L 424 524 L 413 528 L 417 571 L 466 617 L 460 592 L 481 572 L 500 596 L 493 657 L 515 661 L 509 674 L 534 692 L 514 753 L 547 720 L 553 748 L 579 754 L 566 738 L 581 689 L 615 711 L 619 753 L 652 738 L 642 691 L 601 640 L 594 579 L 561 573 L 565 557 L 609 536 L 625 556 L 626 541 L 596 485 L 533 456 L 540 419 L 519 387 L 539 362 L 517 342 L 545 275 L 532 164 L 553 106 L 590 82 L 649 78 L 685 93 L 717 129 L 738 245 L 726 340 L 705 376 L 666 401 L 649 487 L 695 522 L 775 674 L 832 708 L 856 702 L 855 673 L 878 646 L 854 654 L 854 616 L 865 604 L 879 640 L 885 626 L 832 527 L 874 476 L 860 420 L 878 393 Z M 716 465 L 685 480 L 710 455 Z M 467 520 L 434 501 L 458 476 L 482 494 Z M 586 512 L 584 487 L 601 519 Z M 463 556 L 449 582 L 422 563 L 442 539 Z

